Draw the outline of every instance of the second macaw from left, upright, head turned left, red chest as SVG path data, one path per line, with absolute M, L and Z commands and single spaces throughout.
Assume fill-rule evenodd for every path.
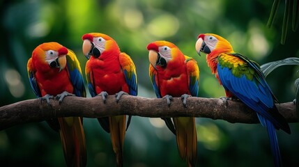
M 120 51 L 116 41 L 103 33 L 86 33 L 82 40 L 84 56 L 89 59 L 85 72 L 91 96 L 101 96 L 104 103 L 107 95 L 115 94 L 116 102 L 124 94 L 136 96 L 135 65 L 128 54 Z M 111 116 L 98 120 L 102 128 L 111 134 L 117 166 L 123 166 L 123 142 L 131 116 L 128 117 L 127 128 L 126 116 Z

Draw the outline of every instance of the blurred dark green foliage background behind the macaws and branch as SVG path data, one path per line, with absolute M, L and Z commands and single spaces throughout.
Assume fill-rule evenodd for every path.
M 146 46 L 155 40 L 174 42 L 199 64 L 200 96 L 224 96 L 210 74 L 205 56 L 197 56 L 199 33 L 217 33 L 234 50 L 259 64 L 299 56 L 298 31 L 289 31 L 280 44 L 284 6 L 266 27 L 273 1 L 0 1 L 0 106 L 36 98 L 26 74 L 33 49 L 56 41 L 72 49 L 81 62 L 82 35 L 101 32 L 112 36 L 137 67 L 139 96 L 155 97 L 148 78 Z M 289 28 L 291 29 L 291 28 Z M 267 77 L 279 102 L 295 98 L 293 81 L 298 67 L 279 67 Z M 90 95 L 89 95 L 90 97 Z M 284 166 L 299 165 L 299 126 L 292 134 L 277 132 Z M 96 119 L 84 118 L 88 166 L 115 166 L 110 136 Z M 266 129 L 261 125 L 231 124 L 197 118 L 199 166 L 273 166 Z M 125 136 L 125 166 L 185 166 L 175 136 L 159 118 L 133 117 Z M 1 166 L 65 166 L 59 134 L 45 122 L 17 125 L 0 132 Z

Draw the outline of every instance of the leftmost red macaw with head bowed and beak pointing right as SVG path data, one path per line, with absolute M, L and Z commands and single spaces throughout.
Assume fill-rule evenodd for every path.
M 68 95 L 86 97 L 81 67 L 76 55 L 57 42 L 47 42 L 33 50 L 27 63 L 28 77 L 34 93 L 41 100 Z M 85 134 L 82 118 L 67 117 L 47 120 L 59 131 L 67 166 L 86 166 Z

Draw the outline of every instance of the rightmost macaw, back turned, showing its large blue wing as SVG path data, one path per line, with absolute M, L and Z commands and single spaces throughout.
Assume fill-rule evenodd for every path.
M 277 99 L 259 65 L 233 51 L 227 40 L 213 33 L 200 34 L 195 48 L 199 55 L 200 51 L 207 54 L 208 66 L 224 87 L 227 98 L 239 99 L 256 112 L 261 125 L 268 130 L 275 166 L 282 166 L 275 129 L 288 134 L 291 130 L 277 111 L 274 104 Z

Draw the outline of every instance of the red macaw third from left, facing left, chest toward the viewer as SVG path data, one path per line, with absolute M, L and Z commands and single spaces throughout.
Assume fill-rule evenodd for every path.
M 198 96 L 199 67 L 197 62 L 184 54 L 171 42 L 156 41 L 147 46 L 149 76 L 158 98 L 165 98 L 170 105 L 172 97 L 181 97 L 187 106 L 187 97 Z M 197 161 L 197 132 L 194 117 L 162 118 L 176 134 L 178 152 L 187 166 Z

